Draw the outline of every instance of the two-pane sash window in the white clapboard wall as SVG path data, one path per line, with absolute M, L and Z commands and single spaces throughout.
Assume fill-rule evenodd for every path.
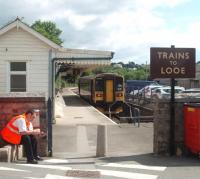
M 10 62 L 10 92 L 26 92 L 26 62 Z

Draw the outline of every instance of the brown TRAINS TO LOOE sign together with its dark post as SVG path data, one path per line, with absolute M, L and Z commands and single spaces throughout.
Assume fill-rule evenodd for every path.
M 170 154 L 175 152 L 175 78 L 195 77 L 195 48 L 151 48 L 150 77 L 171 79 Z

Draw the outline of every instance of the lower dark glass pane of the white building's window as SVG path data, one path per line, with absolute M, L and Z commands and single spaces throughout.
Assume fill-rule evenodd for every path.
M 11 92 L 26 92 L 26 75 L 11 75 L 10 76 L 10 91 Z

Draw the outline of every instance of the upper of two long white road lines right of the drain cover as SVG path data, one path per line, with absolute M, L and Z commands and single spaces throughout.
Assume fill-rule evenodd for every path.
M 101 166 L 119 167 L 119 168 L 135 168 L 135 169 L 156 170 L 156 171 L 164 171 L 167 168 L 167 167 L 159 167 L 159 166 L 148 166 L 148 165 L 139 165 L 139 164 L 118 164 L 118 163 L 108 163 L 108 164 L 103 164 Z

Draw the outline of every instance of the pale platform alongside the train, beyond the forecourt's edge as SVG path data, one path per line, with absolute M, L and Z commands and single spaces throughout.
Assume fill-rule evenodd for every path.
M 63 100 L 62 115 L 56 119 L 56 124 L 62 125 L 116 125 L 110 118 L 99 112 L 89 103 L 81 99 L 73 88 L 65 88 L 60 96 Z

